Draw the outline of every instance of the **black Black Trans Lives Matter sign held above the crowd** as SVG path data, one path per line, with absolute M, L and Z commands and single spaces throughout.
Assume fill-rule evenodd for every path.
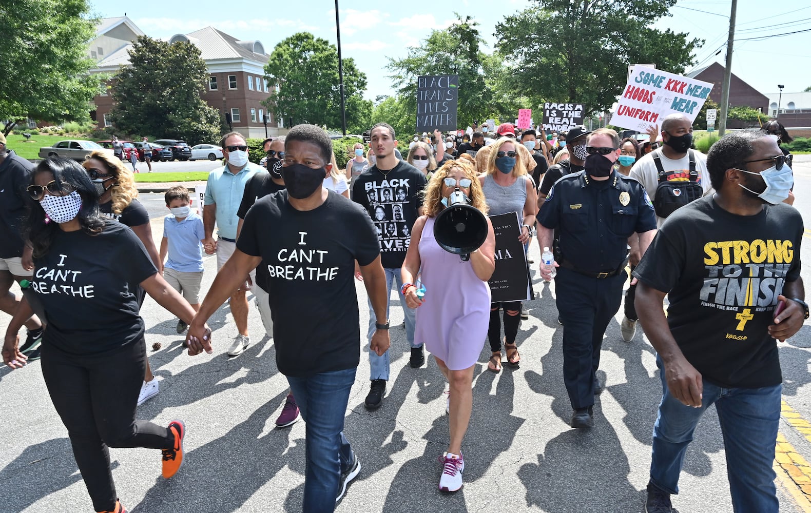
M 456 130 L 459 75 L 423 75 L 417 82 L 417 131 Z

